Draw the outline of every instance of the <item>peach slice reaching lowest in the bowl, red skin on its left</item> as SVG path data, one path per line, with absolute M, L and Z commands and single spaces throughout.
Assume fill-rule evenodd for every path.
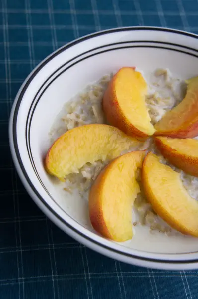
M 109 163 L 96 178 L 89 194 L 89 215 L 93 228 L 118 242 L 129 240 L 132 205 L 140 192 L 136 171 L 145 151 L 124 154 Z

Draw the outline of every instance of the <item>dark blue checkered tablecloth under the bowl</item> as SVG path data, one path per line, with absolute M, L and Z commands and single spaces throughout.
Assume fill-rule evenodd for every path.
M 103 257 L 58 229 L 25 192 L 8 118 L 29 72 L 97 30 L 153 25 L 198 33 L 198 0 L 0 0 L 0 299 L 198 299 L 198 271 L 159 271 Z

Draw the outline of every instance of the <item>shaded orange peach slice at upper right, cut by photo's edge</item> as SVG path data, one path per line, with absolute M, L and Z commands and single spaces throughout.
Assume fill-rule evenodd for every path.
M 198 135 L 198 77 L 186 81 L 185 98 L 155 124 L 155 135 L 192 138 Z

